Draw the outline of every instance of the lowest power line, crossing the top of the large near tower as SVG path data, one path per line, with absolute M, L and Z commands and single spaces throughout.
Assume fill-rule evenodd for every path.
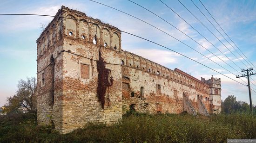
M 64 19 L 73 19 L 73 18 L 67 18 L 67 17 L 61 17 L 61 16 L 42 15 L 42 14 L 0 13 L 0 15 L 31 15 L 31 16 L 47 16 L 47 17 L 58 17 L 58 18 L 64 18 Z M 73 19 L 73 20 L 84 21 L 84 20 L 80 20 L 80 19 Z M 91 24 L 101 25 L 101 24 L 93 23 L 93 22 L 89 22 L 89 21 L 87 21 L 87 22 L 88 22 L 88 23 L 91 23 Z M 101 26 L 105 26 L 105 27 L 108 27 L 108 28 L 111 28 L 111 29 L 112 29 L 112 27 L 110 27 L 110 26 L 108 26 L 108 25 L 101 25 Z M 173 51 L 173 52 L 175 52 L 175 53 L 177 53 L 177 54 L 179 54 L 179 55 L 181 55 L 181 56 L 184 56 L 184 57 L 186 57 L 186 58 L 188 58 L 188 59 L 190 59 L 190 60 L 192 60 L 192 61 L 194 61 L 194 62 L 196 62 L 196 63 L 198 63 L 198 64 L 200 64 L 200 65 L 202 65 L 202 66 L 204 66 L 204 67 L 206 67 L 206 68 L 209 68 L 209 69 L 215 71 L 216 73 L 219 73 L 219 74 L 221 74 L 221 75 L 223 75 L 223 76 L 229 78 L 229 79 L 232 80 L 232 81 L 235 81 L 235 82 L 237 82 L 237 83 L 239 83 L 239 84 L 242 84 L 243 86 L 246 86 L 246 85 L 244 85 L 243 83 L 241 83 L 241 82 L 239 82 L 239 81 L 236 81 L 236 80 L 230 78 L 229 76 L 224 75 L 224 74 L 222 74 L 221 72 L 218 72 L 217 70 L 215 70 L 215 69 L 213 69 L 213 68 L 210 68 L 209 66 L 207 66 L 207 65 L 205 65 L 205 64 L 202 64 L 201 62 L 197 62 L 197 61 L 195 61 L 194 59 L 192 59 L 192 58 L 190 58 L 190 57 L 188 57 L 188 56 L 185 56 L 185 55 L 183 55 L 183 54 L 181 54 L 181 53 L 179 53 L 179 52 L 177 52 L 177 51 L 175 51 L 175 50 L 172 50 L 172 49 L 170 49 L 170 48 L 168 48 L 168 47 L 166 47 L 166 46 L 163 46 L 163 45 L 158 44 L 158 43 L 156 43 L 156 42 L 154 42 L 154 41 L 148 40 L 148 39 L 146 39 L 146 38 L 144 38 L 144 37 L 140 37 L 140 36 L 137 36 L 137 35 L 135 35 L 135 34 L 129 33 L 129 32 L 127 32 L 127 31 L 122 31 L 122 30 L 120 30 L 120 31 L 121 31 L 121 32 L 124 32 L 124 33 L 126 33 L 126 34 L 128 34 L 128 35 L 132 35 L 132 36 L 141 38 L 141 39 L 143 39 L 143 40 L 145 40 L 145 41 L 148 41 L 148 42 L 150 42 L 150 43 L 159 45 L 159 46 L 161 46 L 161 47 L 163 47 L 163 48 L 165 48 L 165 49 L 167 49 L 167 50 L 171 50 L 171 51 Z M 253 90 L 253 91 L 254 91 L 254 90 Z M 256 92 L 256 91 L 254 91 L 254 92 Z

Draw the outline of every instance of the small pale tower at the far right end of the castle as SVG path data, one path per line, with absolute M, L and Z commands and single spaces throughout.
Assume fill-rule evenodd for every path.
M 209 85 L 210 92 L 210 113 L 217 114 L 221 112 L 221 79 L 212 77 L 205 81 L 201 78 L 201 81 Z

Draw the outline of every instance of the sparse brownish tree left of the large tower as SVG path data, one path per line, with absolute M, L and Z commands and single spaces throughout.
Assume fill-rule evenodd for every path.
M 20 106 L 28 112 L 36 112 L 36 78 L 18 81 L 18 90 L 12 97 L 7 97 L 6 112 L 13 112 Z

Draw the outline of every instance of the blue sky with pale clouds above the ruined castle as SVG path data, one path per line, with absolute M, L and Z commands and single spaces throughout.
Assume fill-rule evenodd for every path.
M 195 14 L 195 16 L 202 21 L 206 27 L 218 37 L 226 47 L 228 47 L 242 62 L 239 61 L 225 46 L 223 46 L 201 23 L 191 15 L 185 7 L 183 7 L 178 0 L 162 0 L 175 12 L 177 12 L 183 19 L 187 20 L 190 25 L 202 33 L 212 44 L 225 53 L 238 68 L 227 57 L 223 56 L 215 47 L 209 44 L 203 37 L 201 37 L 195 30 L 180 19 L 174 12 L 164 6 L 159 0 L 134 0 L 155 12 L 163 19 L 167 20 L 172 25 L 175 25 L 181 31 L 193 37 L 195 41 L 202 44 L 205 48 L 215 53 L 227 62 L 233 68 L 219 60 L 217 57 L 211 55 L 207 50 L 203 49 L 199 44 L 189 39 L 189 37 L 175 30 L 174 27 L 168 25 L 163 20 L 159 19 L 152 13 L 142 9 L 139 6 L 129 2 L 128 0 L 96 0 L 101 3 L 113 6 L 124 12 L 128 12 L 140 19 L 143 19 L 152 25 L 166 31 L 170 35 L 178 38 L 182 42 L 200 51 L 205 56 L 222 65 L 235 75 L 239 73 L 233 68 L 240 71 L 240 68 L 250 67 L 247 62 L 234 50 L 230 44 L 210 25 L 201 12 L 193 5 L 190 0 L 181 0 L 181 2 L 188 7 L 188 9 Z M 209 18 L 209 20 L 217 27 L 217 24 L 209 16 L 207 11 L 203 8 L 199 0 L 193 0 L 195 4 L 202 10 L 202 12 Z M 227 32 L 229 37 L 236 43 L 236 45 L 243 51 L 249 60 L 256 65 L 256 1 L 255 0 L 202 0 L 209 12 L 213 15 L 216 21 Z M 245 84 L 243 81 L 236 79 L 227 70 L 221 68 L 215 63 L 209 61 L 207 58 L 189 49 L 184 44 L 176 41 L 174 38 L 154 29 L 153 27 L 134 19 L 121 12 L 117 12 L 106 6 L 101 6 L 88 0 L 8 0 L 0 1 L 0 13 L 32 13 L 32 14 L 46 14 L 55 15 L 61 6 L 67 6 L 72 9 L 85 12 L 88 16 L 95 19 L 101 19 L 105 23 L 114 25 L 123 31 L 148 38 L 167 46 L 168 48 L 189 56 L 200 63 L 203 63 L 217 71 L 231 77 L 232 79 Z M 12 96 L 15 93 L 17 82 L 22 78 L 36 76 L 36 39 L 40 36 L 40 23 L 48 24 L 52 18 L 38 17 L 38 16 L 3 16 L 0 15 L 0 106 L 4 105 L 7 96 Z M 217 27 L 219 31 L 221 29 Z M 222 31 L 221 31 L 222 32 Z M 224 33 L 222 35 L 225 36 Z M 228 39 L 228 37 L 225 37 Z M 221 78 L 222 81 L 222 99 L 228 95 L 235 95 L 237 100 L 243 100 L 249 103 L 248 88 L 228 79 L 227 77 L 216 73 L 209 68 L 190 61 L 183 56 L 177 55 L 169 50 L 163 49 L 155 44 L 148 43 L 137 37 L 133 37 L 122 33 L 122 49 L 133 52 L 137 55 L 144 56 L 154 62 L 160 63 L 168 68 L 179 68 L 187 73 L 195 76 L 198 79 L 204 77 L 209 79 L 211 75 Z M 228 40 L 229 41 L 229 40 Z M 230 41 L 229 41 L 230 43 Z M 235 47 L 235 45 L 232 44 Z M 236 48 L 236 47 L 235 47 Z M 239 50 L 238 50 L 239 51 Z M 241 54 L 241 53 L 240 53 Z M 242 55 L 242 54 L 241 54 Z M 256 85 L 256 76 L 252 76 L 253 84 Z M 256 86 L 252 85 L 256 89 Z M 256 91 L 256 90 L 255 90 Z M 256 93 L 252 92 L 253 104 L 256 104 Z

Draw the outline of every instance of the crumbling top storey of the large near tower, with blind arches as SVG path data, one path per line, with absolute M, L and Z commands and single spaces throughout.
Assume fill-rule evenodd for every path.
M 116 51 L 121 50 L 121 31 L 118 28 L 88 17 L 83 12 L 61 6 L 37 39 L 38 58 L 62 37 L 84 44 L 92 43 Z

